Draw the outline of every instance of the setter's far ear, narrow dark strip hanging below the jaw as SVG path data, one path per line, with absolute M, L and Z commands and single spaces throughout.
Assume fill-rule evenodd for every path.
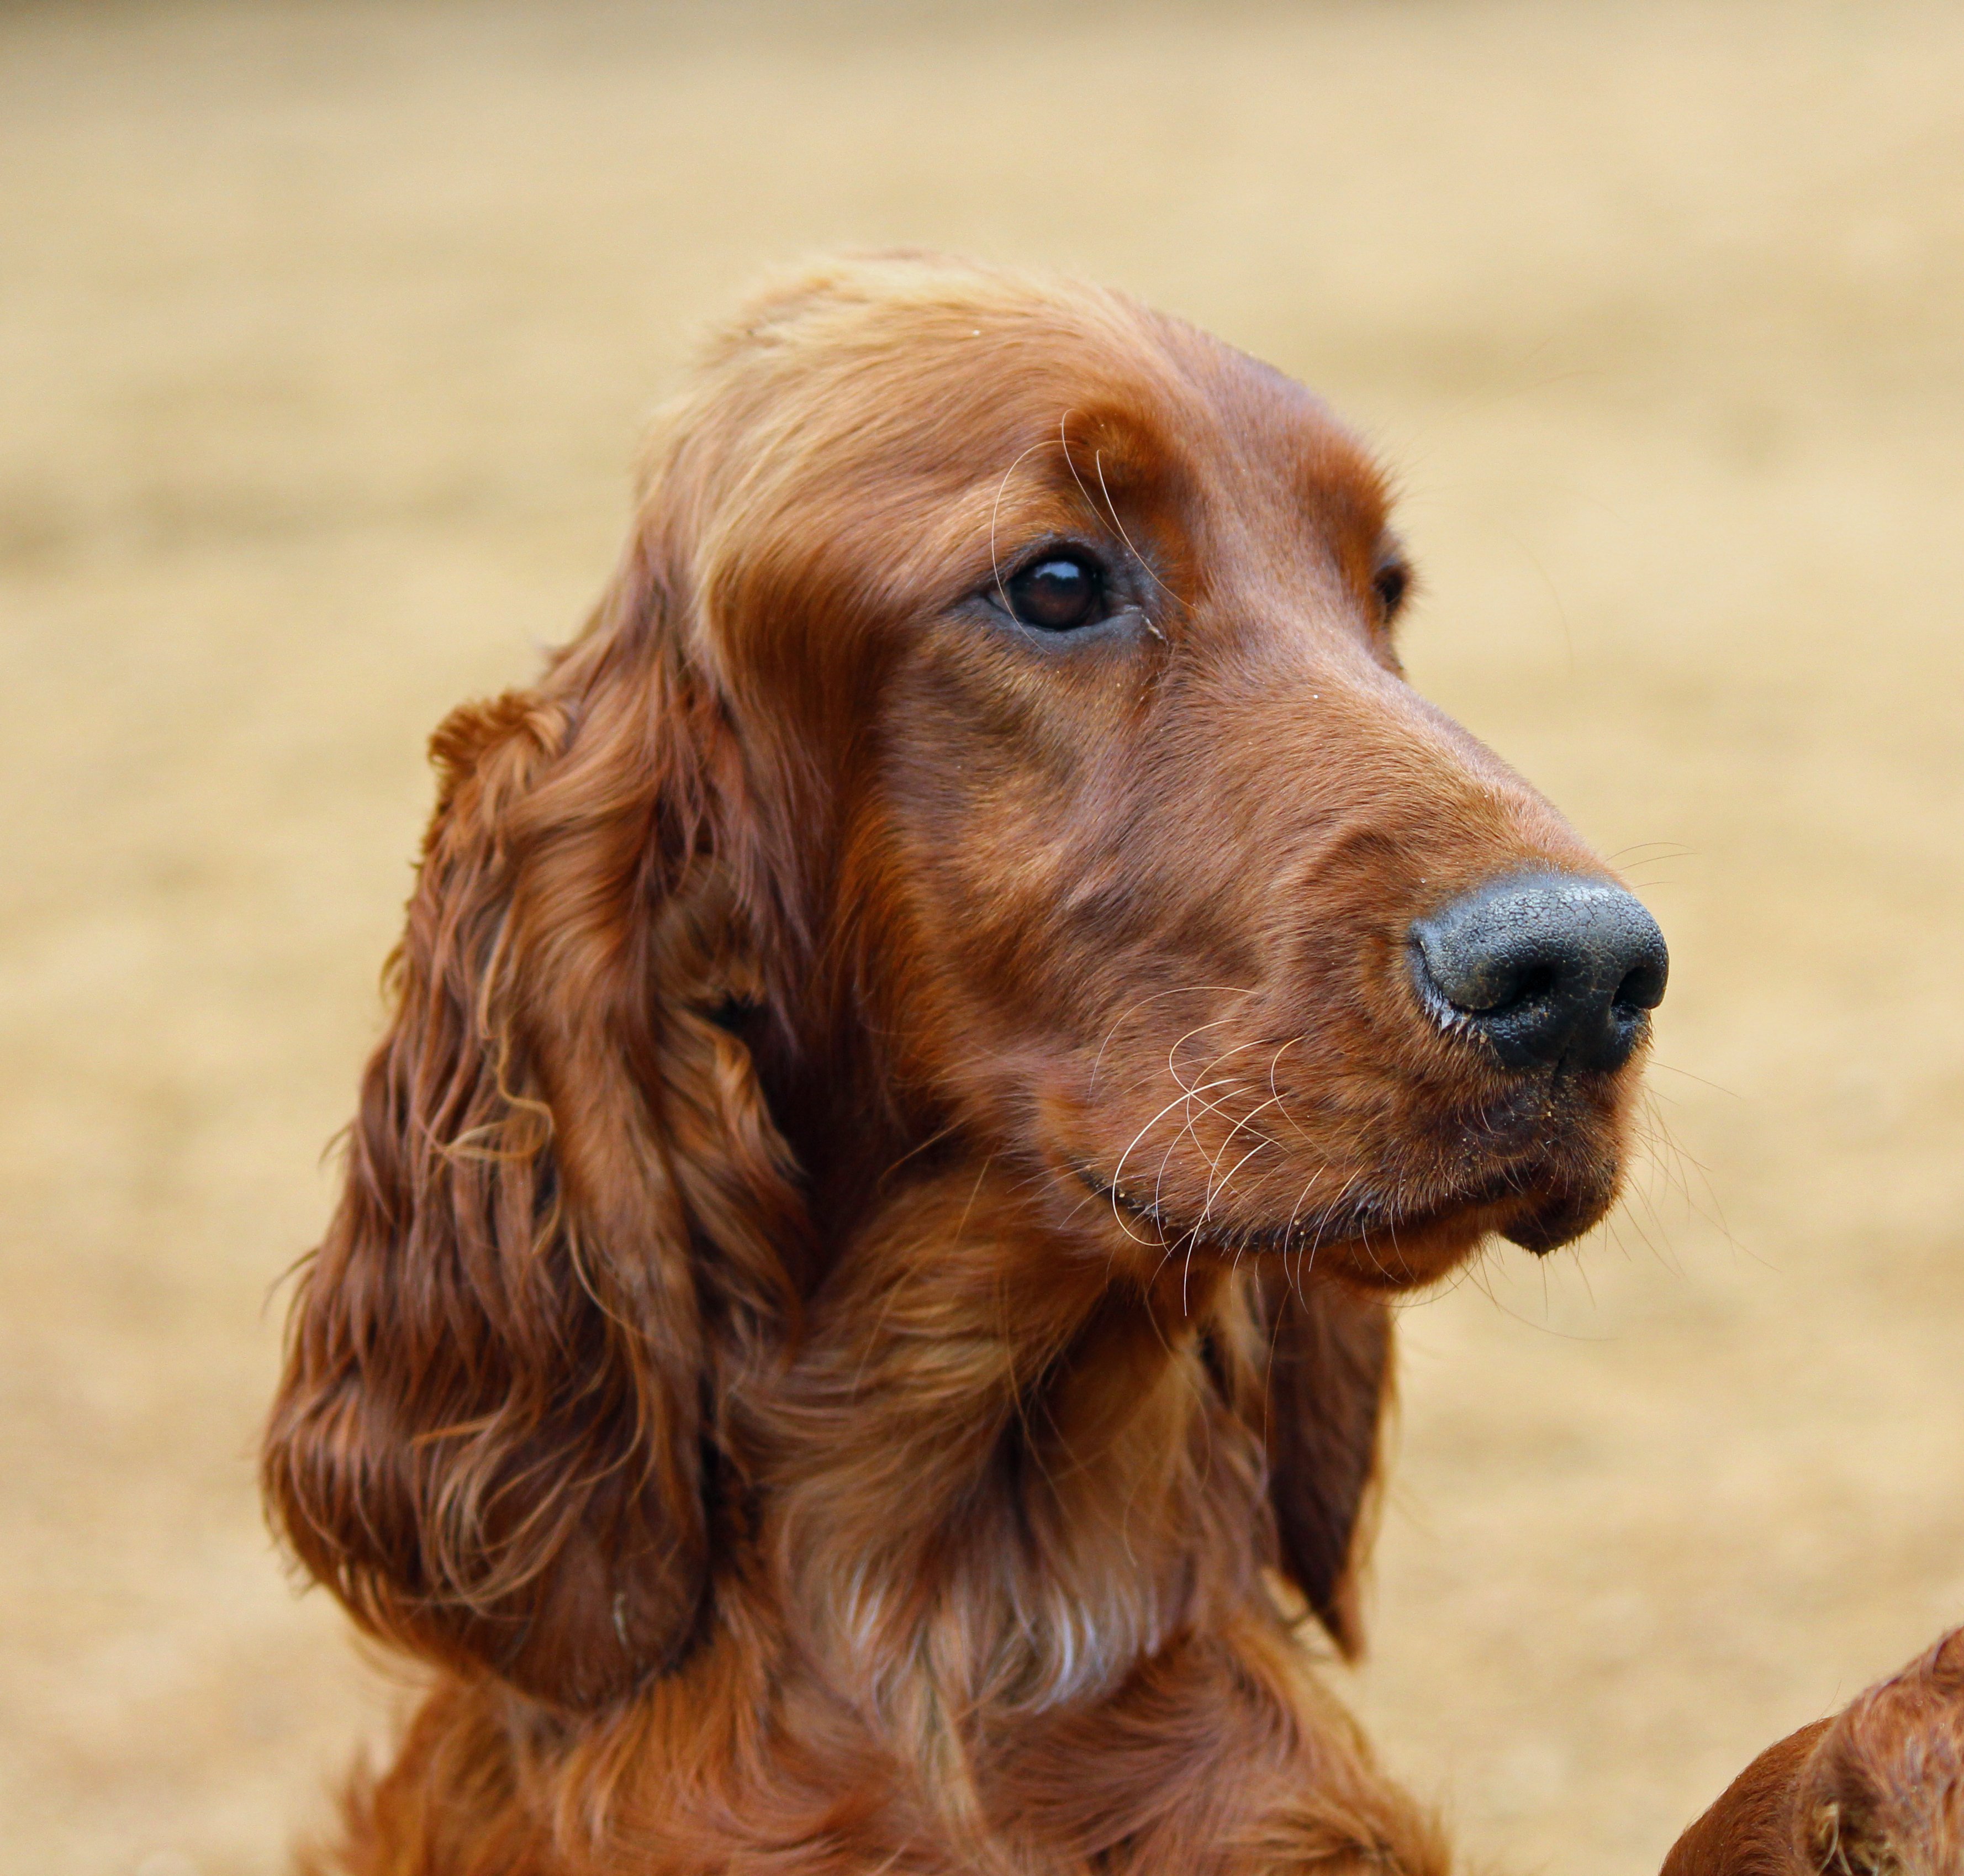
M 1357 1572 L 1369 1548 L 1377 1446 L 1391 1403 L 1391 1310 L 1330 1279 L 1259 1277 L 1269 1363 L 1269 1505 L 1282 1572 L 1345 1656 L 1363 1646 Z

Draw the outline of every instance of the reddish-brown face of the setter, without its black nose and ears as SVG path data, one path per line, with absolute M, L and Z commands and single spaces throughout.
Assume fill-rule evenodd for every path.
M 1522 1059 L 1438 994 L 1414 931 L 1442 908 L 1607 874 L 1406 686 L 1357 444 L 1110 299 L 864 326 L 854 371 L 768 407 L 797 466 L 752 456 L 752 560 L 711 613 L 756 746 L 801 719 L 829 750 L 829 943 L 923 1116 L 1147 1267 L 1410 1285 L 1601 1218 L 1662 949 L 1616 1047 Z

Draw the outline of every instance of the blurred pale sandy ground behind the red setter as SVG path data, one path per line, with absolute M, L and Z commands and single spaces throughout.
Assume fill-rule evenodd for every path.
M 1418 682 L 1669 933 L 1675 1153 L 1408 1312 L 1389 1760 L 1638 1876 L 1964 1619 L 1964 12 L 8 6 L 0 1872 L 273 1870 L 383 1725 L 247 1456 L 420 745 L 852 242 L 1326 389 Z

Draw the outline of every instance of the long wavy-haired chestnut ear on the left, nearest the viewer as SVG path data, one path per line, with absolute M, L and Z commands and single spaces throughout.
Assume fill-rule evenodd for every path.
M 630 556 L 538 691 L 450 717 L 395 1010 L 263 1483 L 375 1634 L 564 1707 L 703 1621 L 705 1495 L 805 1238 L 744 1043 L 740 762 Z

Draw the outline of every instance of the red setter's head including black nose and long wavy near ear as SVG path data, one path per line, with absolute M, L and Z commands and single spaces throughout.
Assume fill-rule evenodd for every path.
M 911 1153 L 1121 1271 L 1599 1218 L 1662 941 L 1408 690 L 1408 579 L 1332 416 L 1129 301 L 760 299 L 587 633 L 438 735 L 267 1448 L 306 1566 L 570 1705 L 674 1658 L 742 1403 Z

